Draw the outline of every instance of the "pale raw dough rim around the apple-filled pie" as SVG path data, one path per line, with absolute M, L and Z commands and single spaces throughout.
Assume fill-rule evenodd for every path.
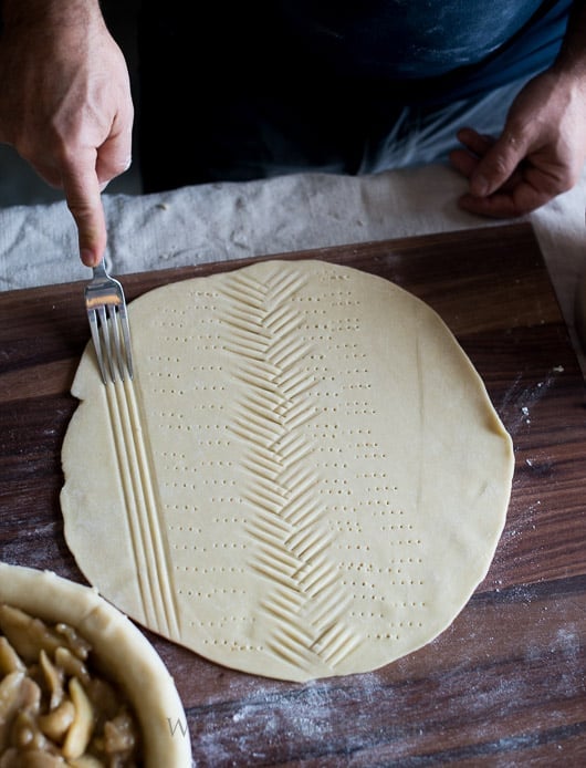
M 50 623 L 64 622 L 90 642 L 134 707 L 146 768 L 191 765 L 186 715 L 172 677 L 140 631 L 95 589 L 52 571 L 0 562 L 0 603 Z

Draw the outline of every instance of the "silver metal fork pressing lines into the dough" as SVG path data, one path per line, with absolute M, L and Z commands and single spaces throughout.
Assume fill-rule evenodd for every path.
M 85 309 L 104 384 L 133 378 L 130 329 L 121 283 L 111 278 L 104 260 L 94 267 L 85 288 Z

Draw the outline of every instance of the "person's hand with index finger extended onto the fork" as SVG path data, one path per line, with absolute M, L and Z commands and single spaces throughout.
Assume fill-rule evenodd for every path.
M 27 12 L 42 9 L 31 18 Z M 4 1 L 0 142 L 62 188 L 82 261 L 104 255 L 101 191 L 126 170 L 134 118 L 128 70 L 97 0 Z

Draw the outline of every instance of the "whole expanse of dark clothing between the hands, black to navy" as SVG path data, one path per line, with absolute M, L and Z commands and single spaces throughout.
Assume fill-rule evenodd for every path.
M 571 6 L 142 0 L 145 189 L 358 173 L 405 106 L 427 114 L 550 66 Z

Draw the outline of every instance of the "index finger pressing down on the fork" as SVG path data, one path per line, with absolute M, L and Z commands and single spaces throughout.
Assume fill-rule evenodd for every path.
M 86 267 L 95 267 L 106 249 L 106 221 L 100 181 L 94 164 L 84 164 L 62 176 L 67 207 L 79 232 L 80 257 Z

